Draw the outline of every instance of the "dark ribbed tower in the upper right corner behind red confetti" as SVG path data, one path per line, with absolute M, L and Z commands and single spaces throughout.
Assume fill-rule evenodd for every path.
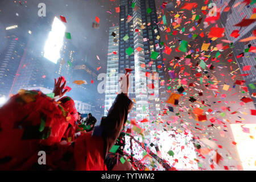
M 238 3 L 241 3 L 239 6 L 234 6 L 238 5 Z M 253 15 L 253 11 L 256 7 L 255 3 L 254 5 L 248 5 L 243 7 L 243 0 L 236 0 L 236 1 L 225 1 L 225 4 L 221 4 L 221 1 L 216 1 L 218 8 L 221 8 L 221 16 L 220 16 L 220 22 L 223 27 L 225 27 L 225 35 L 228 38 L 228 40 L 233 42 L 233 53 L 234 57 L 237 61 L 238 67 L 240 68 L 240 71 L 242 73 L 243 78 L 245 79 L 245 84 L 248 88 L 248 91 L 250 95 L 253 93 L 255 94 L 256 89 L 255 89 L 255 84 L 256 84 L 256 61 L 255 61 L 255 53 L 249 52 L 250 47 L 255 46 L 256 41 L 255 40 L 250 40 L 249 42 L 239 42 L 241 39 L 248 38 L 253 35 L 253 31 L 255 30 L 256 24 L 252 23 L 247 27 L 237 27 L 234 26 L 234 24 L 240 23 L 242 19 L 246 18 L 249 19 Z M 225 7 L 228 6 L 230 7 L 229 11 L 225 11 Z M 238 36 L 237 38 L 230 36 L 234 30 L 238 31 Z M 243 55 L 243 56 L 241 56 Z M 245 69 L 245 66 L 250 66 L 247 67 L 248 69 Z M 256 98 L 255 96 L 252 97 L 254 100 L 254 106 L 256 107 Z

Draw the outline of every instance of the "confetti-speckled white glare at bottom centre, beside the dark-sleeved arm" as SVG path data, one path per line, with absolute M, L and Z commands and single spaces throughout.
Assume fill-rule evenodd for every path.
M 155 131 L 150 131 L 151 137 L 149 138 L 149 143 L 158 143 L 159 151 L 161 153 L 161 156 L 159 157 L 167 160 L 170 166 L 174 165 L 174 167 L 177 168 L 178 170 L 198 170 L 199 167 L 197 166 L 197 163 L 194 160 L 197 158 L 197 155 L 195 152 L 195 147 L 192 142 L 193 135 L 190 131 L 186 131 L 188 135 L 185 135 L 183 133 L 175 134 L 174 131 L 161 131 L 161 133 L 158 135 L 158 142 L 156 142 L 155 139 Z M 175 138 L 171 137 L 171 135 L 175 135 Z M 135 138 L 138 139 L 138 137 Z M 139 138 L 139 142 L 142 142 L 141 137 Z M 155 147 L 149 148 L 152 152 L 157 154 Z M 174 156 L 170 156 L 168 154 L 168 151 L 170 150 L 174 152 Z M 130 138 L 127 136 L 125 151 L 128 154 L 130 154 Z M 133 142 L 134 158 L 140 160 L 148 169 L 151 169 L 152 166 L 150 166 L 150 161 L 142 160 L 143 151 L 144 150 L 142 149 L 141 146 Z M 186 158 L 184 158 L 184 156 L 186 156 Z M 177 159 L 178 162 L 175 162 L 175 159 Z M 156 168 L 156 170 L 164 170 L 164 168 L 159 166 L 159 164 L 157 165 L 158 167 Z

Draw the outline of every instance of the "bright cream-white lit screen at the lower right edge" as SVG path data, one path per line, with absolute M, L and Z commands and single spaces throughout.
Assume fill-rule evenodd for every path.
M 231 124 L 237 151 L 245 171 L 256 170 L 256 124 Z

